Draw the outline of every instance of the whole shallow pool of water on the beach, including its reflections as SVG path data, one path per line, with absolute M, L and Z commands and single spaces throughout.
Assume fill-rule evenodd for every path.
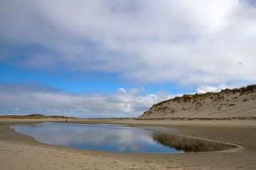
M 76 149 L 135 153 L 212 152 L 233 148 L 219 142 L 132 128 L 124 125 L 41 123 L 11 125 L 38 142 Z

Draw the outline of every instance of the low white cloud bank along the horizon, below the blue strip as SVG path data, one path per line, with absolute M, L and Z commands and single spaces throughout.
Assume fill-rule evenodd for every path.
M 134 117 L 170 94 L 140 94 L 139 89 L 117 89 L 114 94 L 70 94 L 37 84 L 0 84 L 0 114 Z

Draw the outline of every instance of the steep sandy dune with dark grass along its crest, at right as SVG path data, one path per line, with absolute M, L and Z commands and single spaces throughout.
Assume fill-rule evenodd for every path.
M 218 93 L 183 95 L 155 104 L 138 119 L 256 119 L 256 84 Z

